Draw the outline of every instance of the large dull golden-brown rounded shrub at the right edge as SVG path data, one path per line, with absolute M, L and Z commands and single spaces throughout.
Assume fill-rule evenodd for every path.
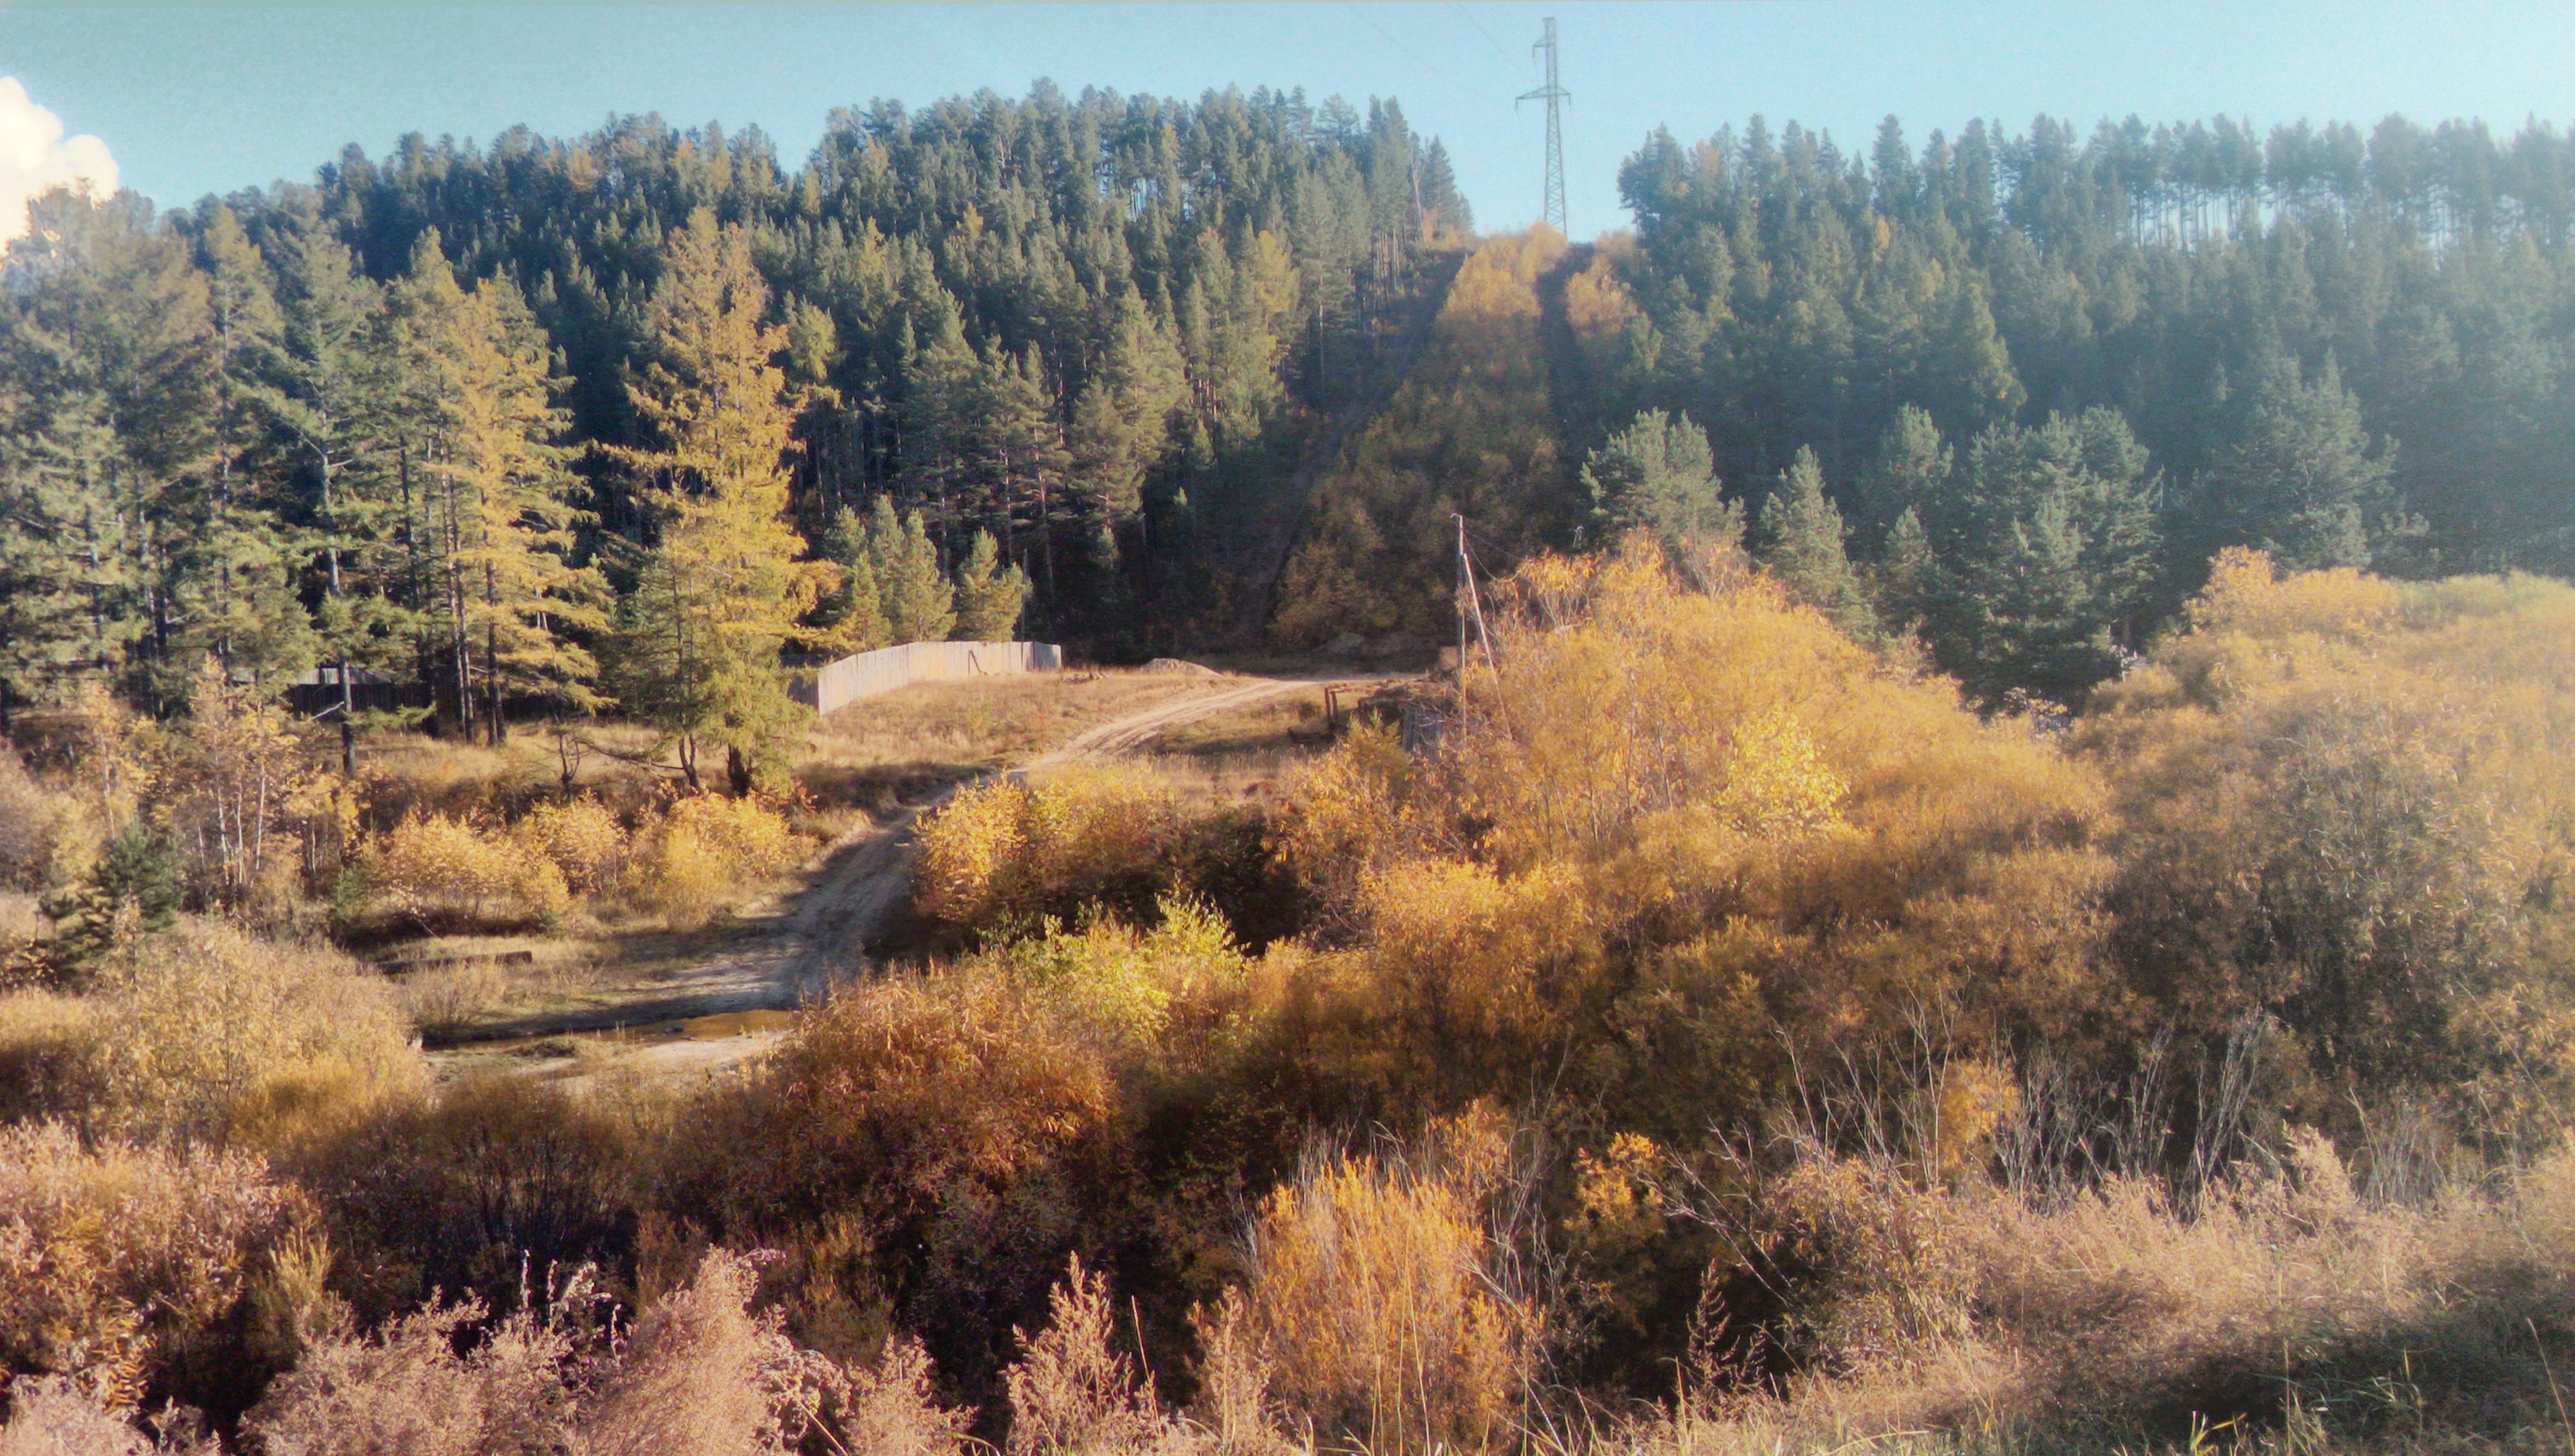
M 2227 553 L 2081 731 L 2119 792 L 2130 983 L 2189 1034 L 2287 1029 L 2276 1096 L 2359 1140 L 2575 1109 L 2575 589 L 2279 576 Z

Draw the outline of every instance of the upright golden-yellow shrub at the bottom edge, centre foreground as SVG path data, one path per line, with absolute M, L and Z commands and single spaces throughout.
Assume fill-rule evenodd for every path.
M 1367 1451 L 1519 1430 L 1545 1309 L 1488 1209 L 1506 1178 L 1506 1134 L 1478 1111 L 1411 1152 L 1308 1158 L 1262 1201 L 1244 1333 L 1295 1417 Z

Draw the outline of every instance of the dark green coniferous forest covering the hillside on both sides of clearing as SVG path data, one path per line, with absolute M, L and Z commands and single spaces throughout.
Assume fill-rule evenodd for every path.
M 1519 445 L 1334 430 L 1409 368 L 1470 247 L 1439 144 L 1393 103 L 878 105 L 793 170 L 757 131 L 623 118 L 350 149 L 170 216 L 49 203 L 10 255 L 0 677 L 41 700 L 113 669 L 175 705 L 214 648 L 417 679 L 453 723 L 494 689 L 590 702 L 667 514 L 639 450 L 675 440 L 646 401 L 677 378 L 654 376 L 680 347 L 664 301 L 688 257 L 718 268 L 675 242 L 695 224 L 739 229 L 754 275 L 724 306 L 770 329 L 785 520 L 839 579 L 886 502 L 881 535 L 917 517 L 942 571 L 1017 571 L 1027 630 L 1110 661 L 1264 628 L 1437 641 L 1432 496 L 1501 551 L 1573 548 L 1604 520 L 1584 458 L 1661 409 L 1743 509 L 1810 453 L 1877 630 L 1988 700 L 2068 700 L 2225 545 L 2400 576 L 2575 563 L 2570 177 L 2549 129 L 2402 118 L 2039 118 L 1918 149 L 1890 118 L 1867 154 L 1759 118 L 1658 134 L 1620 172 L 1633 234 L 1522 268 L 1509 347 L 1542 363 L 1517 386 L 1542 409 L 1496 427 L 1548 427 Z M 518 512 L 500 545 L 438 496 L 458 412 L 523 458 L 484 507 Z M 1406 494 L 1375 455 L 1439 432 L 1517 453 L 1512 502 Z M 1388 491 L 1429 530 L 1396 551 L 1421 520 L 1367 520 L 1352 587 L 1336 502 Z M 469 623 L 479 551 L 515 561 L 479 612 L 523 623 L 510 643 Z M 816 597 L 793 646 L 891 630 Z

